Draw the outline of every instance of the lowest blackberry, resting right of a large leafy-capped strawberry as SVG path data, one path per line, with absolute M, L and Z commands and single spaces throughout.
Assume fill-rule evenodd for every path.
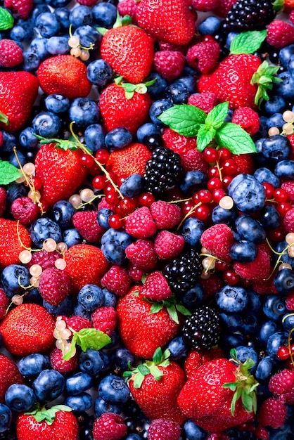
M 181 331 L 193 350 L 210 350 L 219 340 L 219 315 L 211 307 L 201 306 L 186 318 Z

